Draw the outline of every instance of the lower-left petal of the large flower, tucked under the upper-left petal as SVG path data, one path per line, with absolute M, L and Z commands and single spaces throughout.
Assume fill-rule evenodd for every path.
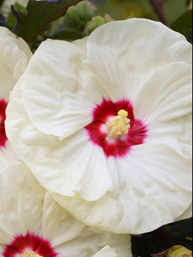
M 22 105 L 23 83 L 22 78 L 12 92 L 6 119 L 8 138 L 19 157 L 49 190 L 67 196 L 78 192 L 86 200 L 99 199 L 112 186 L 111 172 L 102 148 L 94 148 L 89 143 L 86 130 L 65 141 L 39 132 Z M 100 157 L 97 163 L 96 156 Z

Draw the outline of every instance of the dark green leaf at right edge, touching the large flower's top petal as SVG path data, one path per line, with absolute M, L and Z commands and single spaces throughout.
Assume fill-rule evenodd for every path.
M 187 40 L 192 43 L 192 10 L 187 10 L 184 15 L 174 21 L 171 28 L 185 35 Z

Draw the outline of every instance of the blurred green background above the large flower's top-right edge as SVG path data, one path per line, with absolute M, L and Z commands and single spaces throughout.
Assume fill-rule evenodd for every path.
M 182 33 L 192 43 L 192 0 L 91 0 L 98 15 L 113 19 L 131 17 L 162 21 Z

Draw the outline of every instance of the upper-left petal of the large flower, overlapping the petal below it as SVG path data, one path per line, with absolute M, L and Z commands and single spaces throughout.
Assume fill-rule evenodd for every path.
M 102 101 L 98 81 L 86 69 L 82 46 L 46 40 L 33 55 L 24 76 L 22 96 L 38 130 L 64 139 L 92 121 Z

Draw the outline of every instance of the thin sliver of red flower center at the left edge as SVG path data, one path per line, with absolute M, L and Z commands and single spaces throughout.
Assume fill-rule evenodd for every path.
M 6 107 L 8 103 L 5 100 L 0 99 L 0 148 L 6 146 L 7 136 L 5 130 L 5 120 L 6 120 Z

